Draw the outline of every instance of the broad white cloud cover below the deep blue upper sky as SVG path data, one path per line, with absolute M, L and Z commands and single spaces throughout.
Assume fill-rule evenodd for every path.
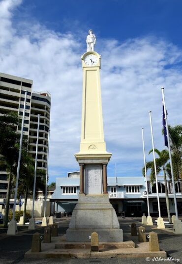
M 13 23 L 21 0 L 0 1 L 0 71 L 33 79 L 33 90 L 52 95 L 50 175 L 78 169 L 81 132 L 82 68 L 85 39 L 74 33 L 49 30 L 37 22 Z M 20 26 L 21 25 L 21 26 Z M 86 32 L 87 34 L 87 32 Z M 84 36 L 86 37 L 86 36 Z M 141 128 L 146 152 L 152 148 L 149 110 L 152 110 L 155 147 L 162 149 L 160 87 L 165 86 L 169 123 L 182 123 L 182 51 L 154 37 L 100 39 L 101 89 L 107 149 L 113 153 L 109 175 L 140 174 L 143 166 Z M 84 45 L 84 46 L 83 46 Z M 147 159 L 152 159 L 148 157 Z M 60 172 L 59 172 L 60 170 Z M 131 175 L 132 174 L 132 175 Z

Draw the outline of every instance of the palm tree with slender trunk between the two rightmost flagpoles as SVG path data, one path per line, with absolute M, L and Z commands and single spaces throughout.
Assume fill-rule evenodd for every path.
M 149 154 L 152 153 L 153 150 L 150 150 Z M 171 223 L 171 214 L 170 214 L 170 207 L 169 207 L 169 195 L 168 195 L 168 188 L 167 188 L 167 180 L 166 180 L 166 172 L 169 173 L 169 152 L 168 150 L 162 150 L 159 151 L 158 149 L 154 150 L 158 158 L 155 158 L 156 163 L 156 171 L 157 175 L 163 170 L 163 176 L 164 176 L 164 183 L 165 183 L 165 194 L 166 194 L 166 207 L 167 207 L 167 214 L 169 222 Z M 146 169 L 151 169 L 151 182 L 155 181 L 155 171 L 154 171 L 154 162 L 149 161 L 146 162 Z

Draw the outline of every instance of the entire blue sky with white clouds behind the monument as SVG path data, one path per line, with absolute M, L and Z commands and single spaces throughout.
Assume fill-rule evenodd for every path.
M 164 148 L 160 87 L 168 122 L 182 124 L 181 0 L 0 0 L 0 72 L 33 79 L 52 95 L 50 182 L 78 170 L 82 68 L 88 29 L 101 54 L 104 134 L 112 152 L 108 175 L 139 176 Z

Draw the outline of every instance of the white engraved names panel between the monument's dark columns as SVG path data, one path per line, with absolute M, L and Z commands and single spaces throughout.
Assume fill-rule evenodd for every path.
M 101 165 L 86 165 L 85 168 L 85 194 L 102 193 Z

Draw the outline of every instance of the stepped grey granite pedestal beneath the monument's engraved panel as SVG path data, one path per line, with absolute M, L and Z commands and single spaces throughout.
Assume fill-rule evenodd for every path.
M 89 242 L 94 231 L 98 233 L 99 241 L 123 241 L 116 211 L 109 202 L 108 194 L 79 195 L 66 231 L 66 240 Z

